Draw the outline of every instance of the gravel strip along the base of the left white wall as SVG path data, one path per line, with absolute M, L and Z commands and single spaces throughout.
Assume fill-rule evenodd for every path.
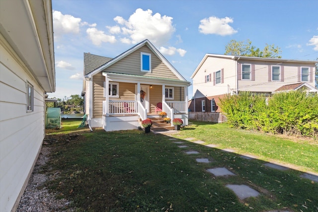
M 49 193 L 46 187 L 42 187 L 43 184 L 49 180 L 49 177 L 46 174 L 40 174 L 39 171 L 49 160 L 49 153 L 50 147 L 44 143 L 16 212 L 75 211 L 74 209 L 68 208 L 70 204 L 68 200 L 58 200 L 55 198 L 55 194 Z M 57 174 L 53 177 L 57 177 Z

